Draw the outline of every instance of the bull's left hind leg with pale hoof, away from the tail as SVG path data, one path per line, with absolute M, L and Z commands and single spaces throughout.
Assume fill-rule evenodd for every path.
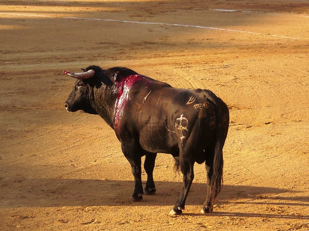
M 189 159 L 189 158 L 188 158 Z M 182 210 L 184 209 L 186 199 L 192 184 L 192 181 L 194 179 L 194 172 L 193 172 L 193 166 L 194 161 L 188 160 L 187 158 L 184 159 L 182 157 L 179 158 L 180 161 L 180 170 L 183 174 L 183 188 L 181 190 L 180 196 L 178 201 L 176 202 L 176 205 L 174 208 L 170 211 L 171 215 L 179 215 L 182 213 Z

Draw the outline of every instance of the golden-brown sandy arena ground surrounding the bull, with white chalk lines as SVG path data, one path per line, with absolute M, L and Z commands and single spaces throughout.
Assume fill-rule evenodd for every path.
M 0 2 L 0 230 L 309 230 L 309 1 Z M 97 115 L 68 113 L 63 70 L 129 67 L 230 108 L 212 214 L 204 164 L 181 216 L 170 155 L 157 193 L 133 176 Z M 143 172 L 143 181 L 146 174 Z

